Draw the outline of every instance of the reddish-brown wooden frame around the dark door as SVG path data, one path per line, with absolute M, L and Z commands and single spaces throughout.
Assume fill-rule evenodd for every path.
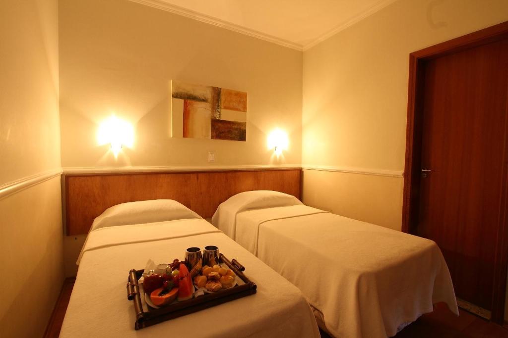
M 485 45 L 508 38 L 508 21 L 456 39 L 409 54 L 409 86 L 407 97 L 406 154 L 404 190 L 402 200 L 402 231 L 416 234 L 419 213 L 422 119 L 425 65 L 443 55 Z M 508 106 L 506 107 L 508 113 Z M 501 182 L 501 203 L 498 217 L 496 256 L 492 297 L 491 320 L 502 324 L 508 270 L 508 119 L 505 125 L 505 142 Z

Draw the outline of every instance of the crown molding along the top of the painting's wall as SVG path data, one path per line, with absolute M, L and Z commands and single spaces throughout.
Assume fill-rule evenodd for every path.
M 196 11 L 189 10 L 189 9 L 186 9 L 186 8 L 183 8 L 180 6 L 168 4 L 168 3 L 161 1 L 161 0 L 129 0 L 129 1 L 138 3 L 138 4 L 142 4 L 142 5 L 146 5 L 146 6 L 150 6 L 153 8 L 161 9 L 161 10 L 171 12 L 174 14 L 178 14 L 178 15 L 190 18 L 190 19 L 195 19 L 195 20 L 198 20 L 201 22 L 205 22 L 205 23 L 214 25 L 214 26 L 226 28 L 226 29 L 235 31 L 237 33 L 256 37 L 257 39 L 268 41 L 268 42 L 271 42 L 271 43 L 274 43 L 274 44 L 277 44 L 277 45 L 280 45 L 283 47 L 296 49 L 297 51 L 300 51 L 300 52 L 303 51 L 303 46 L 300 44 L 296 44 L 296 43 L 293 43 L 291 41 L 284 40 L 284 39 L 279 39 L 278 37 L 275 37 L 275 36 L 272 36 L 269 34 L 265 34 L 260 31 L 254 30 L 254 29 L 245 28 L 240 25 L 237 25 L 237 24 L 225 21 L 225 20 L 217 19 L 217 18 L 211 17 L 206 14 L 201 14 Z

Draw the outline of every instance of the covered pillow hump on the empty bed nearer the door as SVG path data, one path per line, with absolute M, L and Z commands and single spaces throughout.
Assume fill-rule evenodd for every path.
M 236 237 L 236 215 L 239 212 L 285 207 L 303 204 L 296 197 L 271 190 L 255 190 L 243 192 L 230 197 L 219 205 L 212 216 L 212 224 L 226 235 Z

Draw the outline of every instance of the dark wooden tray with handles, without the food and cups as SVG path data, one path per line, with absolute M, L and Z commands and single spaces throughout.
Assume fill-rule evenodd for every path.
M 138 279 L 141 278 L 143 270 L 131 270 L 129 271 L 129 280 L 127 283 L 127 299 L 134 301 L 134 311 L 136 313 L 136 323 L 134 327 L 136 330 L 142 329 L 147 326 L 158 324 L 166 320 L 185 316 L 189 313 L 198 312 L 204 309 L 211 308 L 213 306 L 223 304 L 226 302 L 234 301 L 235 299 L 245 297 L 256 293 L 257 285 L 251 282 L 242 271 L 245 268 L 239 264 L 235 259 L 230 261 L 223 254 L 219 255 L 221 262 L 224 262 L 233 270 L 233 272 L 240 277 L 245 283 L 242 285 L 236 285 L 229 289 L 220 290 L 213 293 L 205 293 L 202 296 L 189 299 L 188 301 L 174 303 L 160 309 L 148 308 L 145 311 L 141 302 L 141 292 L 138 285 Z

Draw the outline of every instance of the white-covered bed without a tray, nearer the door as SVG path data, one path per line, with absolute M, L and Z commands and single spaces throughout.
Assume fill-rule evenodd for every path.
M 448 267 L 431 240 L 272 191 L 231 197 L 212 223 L 296 285 L 336 337 L 394 336 L 439 302 L 458 315 Z

